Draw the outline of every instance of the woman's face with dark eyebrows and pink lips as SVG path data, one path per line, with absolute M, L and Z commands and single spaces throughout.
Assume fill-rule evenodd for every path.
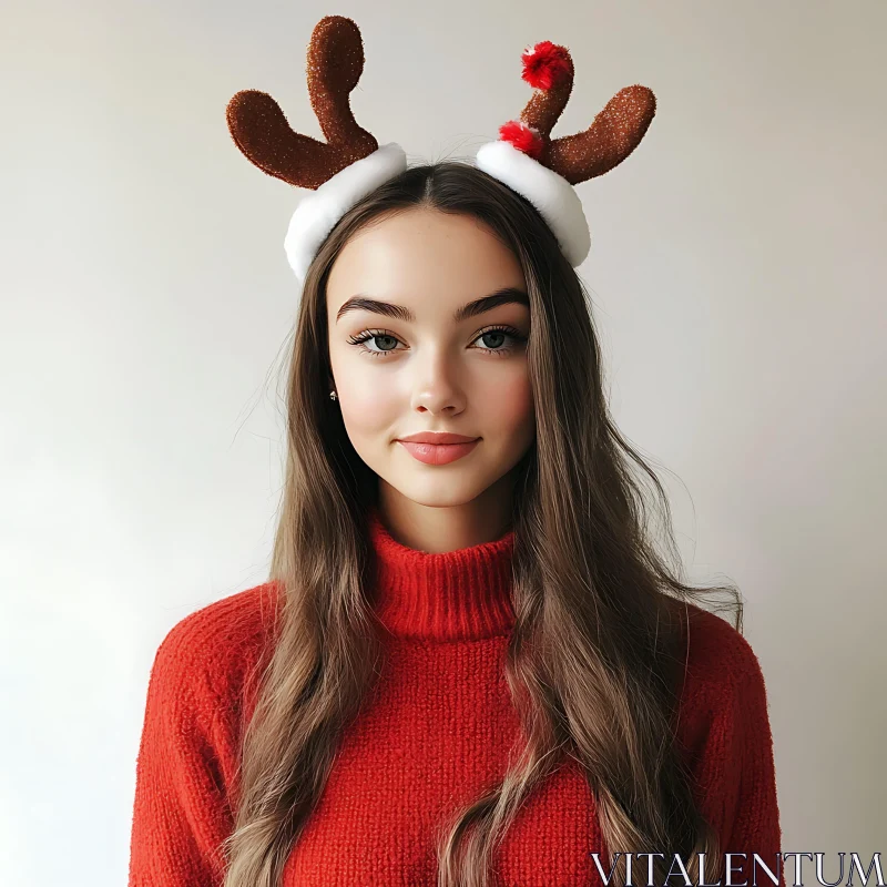
M 527 452 L 526 292 L 518 259 L 472 216 L 408 210 L 341 249 L 326 293 L 333 386 L 355 450 L 391 488 L 381 495 L 465 504 Z M 399 442 L 424 431 L 475 442 L 451 461 L 458 450 Z

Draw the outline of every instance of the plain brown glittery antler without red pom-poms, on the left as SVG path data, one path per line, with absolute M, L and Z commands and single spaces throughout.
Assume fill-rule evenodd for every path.
M 326 143 L 294 132 L 277 102 L 258 90 L 243 90 L 227 104 L 234 143 L 268 175 L 318 188 L 379 146 L 357 125 L 348 100 L 363 71 L 364 43 L 357 24 L 344 16 L 326 16 L 312 33 L 306 68 L 312 108 Z

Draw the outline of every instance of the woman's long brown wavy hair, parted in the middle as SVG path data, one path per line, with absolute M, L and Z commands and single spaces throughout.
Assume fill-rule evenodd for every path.
M 377 674 L 381 648 L 364 590 L 377 477 L 328 397 L 326 282 L 364 225 L 419 206 L 475 216 L 519 259 L 537 416 L 534 445 L 513 469 L 517 619 L 506 661 L 526 751 L 501 784 L 442 827 L 438 885 L 488 885 L 492 852 L 522 799 L 568 756 L 587 775 L 606 848 L 623 854 L 614 884 L 625 883 L 629 853 L 669 848 L 696 870 L 696 854 L 712 860 L 720 848 L 671 741 L 685 604 L 727 592 L 741 630 L 741 597 L 733 585 L 681 581 L 665 492 L 609 415 L 590 300 L 549 226 L 496 179 L 446 161 L 408 169 L 354 206 L 305 279 L 271 568 L 282 590 L 279 628 L 243 737 L 225 887 L 277 887 L 338 738 Z M 662 506 L 661 550 L 653 501 Z

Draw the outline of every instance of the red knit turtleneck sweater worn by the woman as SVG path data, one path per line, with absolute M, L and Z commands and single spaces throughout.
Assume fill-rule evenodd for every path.
M 436 825 L 501 777 L 518 736 L 502 673 L 514 618 L 513 532 L 427 553 L 394 540 L 374 512 L 370 536 L 374 606 L 390 632 L 389 655 L 370 704 L 343 737 L 283 887 L 436 885 Z M 275 588 L 265 583 L 197 610 L 157 650 L 136 765 L 129 887 L 223 883 L 218 845 L 233 830 L 238 740 L 255 703 L 249 670 L 265 649 Z M 758 853 L 773 869 L 781 834 L 761 667 L 727 622 L 697 608 L 691 613 L 680 746 L 723 852 L 748 860 Z M 661 849 L 671 863 L 673 850 Z M 571 762 L 519 812 L 495 860 L 496 884 L 599 885 L 593 852 L 605 867 L 594 801 Z M 633 870 L 634 884 L 645 884 L 645 860 L 635 858 Z M 771 884 L 763 869 L 756 875 Z M 732 883 L 752 883 L 743 857 L 733 859 Z

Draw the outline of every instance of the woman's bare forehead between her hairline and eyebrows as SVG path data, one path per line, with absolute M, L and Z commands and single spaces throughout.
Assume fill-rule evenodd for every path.
M 410 208 L 358 232 L 333 263 L 327 303 L 335 314 L 356 293 L 460 304 L 496 289 L 526 286 L 514 254 L 470 215 Z

